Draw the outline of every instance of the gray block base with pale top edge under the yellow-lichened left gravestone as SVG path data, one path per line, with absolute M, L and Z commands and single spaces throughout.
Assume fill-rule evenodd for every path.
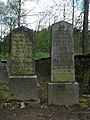
M 10 76 L 9 90 L 11 99 L 37 100 L 37 76 Z

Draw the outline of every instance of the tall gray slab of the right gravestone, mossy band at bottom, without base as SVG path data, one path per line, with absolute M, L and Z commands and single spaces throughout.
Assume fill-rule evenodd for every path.
M 51 81 L 75 81 L 72 25 L 61 21 L 52 25 Z

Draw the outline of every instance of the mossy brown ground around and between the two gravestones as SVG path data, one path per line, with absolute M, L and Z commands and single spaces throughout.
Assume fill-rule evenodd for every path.
M 36 66 L 39 64 L 37 63 Z M 73 106 L 47 104 L 47 83 L 50 81 L 50 69 L 47 68 L 45 71 L 48 72 L 36 69 L 40 103 L 36 105 L 25 103 L 25 107 L 21 108 L 20 102 L 4 101 L 3 107 L 0 107 L 0 120 L 90 120 L 90 96 L 88 95 L 81 95 L 79 103 Z

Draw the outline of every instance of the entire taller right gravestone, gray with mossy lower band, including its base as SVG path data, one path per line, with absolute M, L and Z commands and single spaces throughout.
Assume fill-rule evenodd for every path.
M 73 105 L 78 99 L 73 28 L 71 24 L 60 21 L 52 25 L 51 83 L 48 84 L 48 103 Z

